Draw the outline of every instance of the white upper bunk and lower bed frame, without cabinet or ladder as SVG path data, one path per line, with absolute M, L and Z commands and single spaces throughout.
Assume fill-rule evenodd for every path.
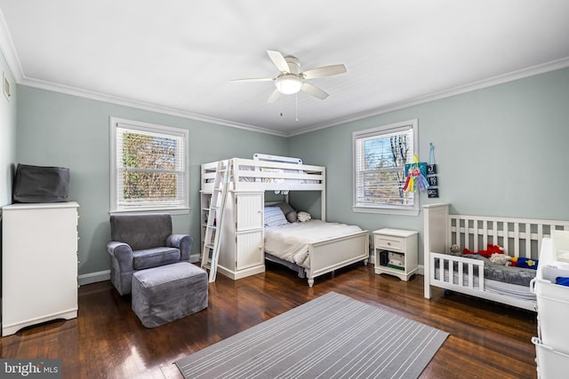
M 226 162 L 228 161 L 226 160 Z M 231 158 L 230 161 L 233 167 L 230 191 L 279 191 L 284 193 L 286 197 L 289 191 L 319 191 L 321 193 L 321 219 L 325 221 L 325 167 L 293 163 L 293 159 L 287 157 L 275 157 L 273 160 Z M 218 162 L 202 164 L 202 192 L 212 192 L 217 166 Z M 367 264 L 369 259 L 369 233 L 365 230 L 313 243 L 309 248 L 309 259 L 310 268 L 304 269 L 304 271 L 309 286 L 312 287 L 314 279 L 325 273 L 360 261 Z M 289 265 L 289 267 L 291 266 Z M 293 269 L 297 270 L 296 268 Z

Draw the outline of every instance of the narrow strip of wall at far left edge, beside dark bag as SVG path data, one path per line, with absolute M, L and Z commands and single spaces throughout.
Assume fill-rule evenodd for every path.
M 0 207 L 12 202 L 12 177 L 16 160 L 16 105 L 18 102 L 16 82 L 0 52 L 0 70 L 4 73 L 12 96 L 6 99 L 0 94 Z M 2 80 L 2 77 L 0 77 Z M 2 85 L 0 84 L 0 88 Z M 2 91 L 2 90 L 0 90 Z

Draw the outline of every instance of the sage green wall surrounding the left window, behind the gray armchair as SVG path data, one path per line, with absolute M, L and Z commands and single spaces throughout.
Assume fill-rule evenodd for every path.
M 131 107 L 38 90 L 18 88 L 17 162 L 68 167 L 69 198 L 80 204 L 79 274 L 109 269 L 105 245 L 109 239 L 108 119 L 115 116 L 189 130 L 190 213 L 173 216 L 175 233 L 196 239 L 199 254 L 199 167 L 233 156 L 254 153 L 285 155 L 286 138 L 198 122 Z

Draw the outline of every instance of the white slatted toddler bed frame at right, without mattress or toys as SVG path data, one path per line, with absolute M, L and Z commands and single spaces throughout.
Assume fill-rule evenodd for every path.
M 500 245 L 511 257 L 539 258 L 541 240 L 552 230 L 569 230 L 569 221 L 539 220 L 530 218 L 483 217 L 450 215 L 450 204 L 429 204 L 424 210 L 424 280 L 425 298 L 431 297 L 431 286 L 450 289 L 501 304 L 535 311 L 535 301 L 486 292 L 484 288 L 484 261 L 450 255 L 453 244 L 472 252 L 486 249 L 488 243 Z M 438 265 L 436 265 L 438 261 Z M 454 265 L 454 263 L 459 265 Z M 463 269 L 466 265 L 467 268 Z M 447 280 L 443 267 L 458 267 L 459 279 L 453 282 L 453 272 Z M 478 286 L 475 285 L 474 267 L 478 267 Z M 435 268 L 438 267 L 436 279 Z M 468 275 L 468 285 L 463 283 Z

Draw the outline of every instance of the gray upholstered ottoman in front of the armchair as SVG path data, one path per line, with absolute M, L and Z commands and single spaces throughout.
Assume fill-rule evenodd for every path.
M 207 273 L 189 262 L 134 272 L 132 311 L 155 328 L 207 307 Z

